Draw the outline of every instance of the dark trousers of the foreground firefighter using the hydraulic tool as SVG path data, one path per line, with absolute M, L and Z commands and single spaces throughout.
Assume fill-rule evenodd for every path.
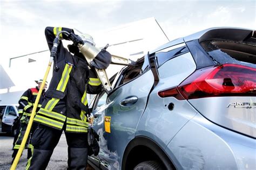
M 65 125 L 63 127 L 65 129 Z M 53 149 L 57 146 L 62 131 L 39 124 L 33 134 L 32 157 L 26 169 L 45 169 Z M 87 133 L 65 132 L 68 143 L 68 169 L 85 169 L 87 163 Z

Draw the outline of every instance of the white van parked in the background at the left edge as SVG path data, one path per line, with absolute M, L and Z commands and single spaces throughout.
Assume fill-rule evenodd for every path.
M 0 105 L 0 132 L 12 133 L 11 126 L 18 117 L 18 105 Z

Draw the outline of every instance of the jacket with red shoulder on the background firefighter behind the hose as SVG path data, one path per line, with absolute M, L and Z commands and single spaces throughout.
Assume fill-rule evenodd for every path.
M 19 101 L 18 101 L 19 117 L 21 117 L 21 115 L 22 115 L 21 121 L 24 123 L 28 123 L 28 120 L 31 116 L 33 105 L 35 104 L 35 101 L 36 101 L 38 91 L 39 91 L 38 87 L 28 89 L 22 94 L 21 99 L 19 99 Z M 43 99 L 44 99 L 44 90 L 39 99 L 37 111 L 41 107 L 41 104 L 43 103 Z

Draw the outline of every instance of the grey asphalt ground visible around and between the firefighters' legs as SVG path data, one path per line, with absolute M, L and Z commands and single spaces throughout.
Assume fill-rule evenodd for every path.
M 14 137 L 6 133 L 0 133 L 0 169 L 10 169 L 11 167 L 11 154 L 12 154 L 12 142 Z M 28 151 L 24 149 L 21 159 L 16 169 L 25 169 L 26 167 L 26 155 Z M 66 169 L 68 168 L 68 145 L 66 144 L 66 137 L 63 133 L 58 145 L 56 146 L 51 160 L 46 169 Z

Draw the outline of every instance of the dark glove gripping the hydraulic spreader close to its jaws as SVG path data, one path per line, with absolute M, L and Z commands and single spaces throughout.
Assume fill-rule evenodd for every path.
M 102 50 L 98 53 L 95 59 L 90 63 L 96 69 L 106 69 L 111 63 L 111 54 L 106 50 Z

